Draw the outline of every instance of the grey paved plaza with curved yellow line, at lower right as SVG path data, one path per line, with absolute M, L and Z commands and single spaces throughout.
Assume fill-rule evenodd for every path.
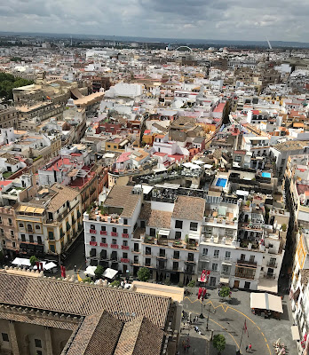
M 197 288 L 194 289 L 192 296 L 186 297 L 184 302 L 185 317 L 188 312 L 192 312 L 192 318 L 201 313 L 202 304 L 196 296 Z M 209 329 L 214 330 L 214 334 L 223 334 L 226 336 L 226 350 L 222 355 L 235 354 L 239 349 L 242 327 L 246 319 L 248 327 L 248 334 L 245 333 L 242 337 L 242 353 L 245 353 L 245 347 L 252 343 L 252 350 L 248 353 L 271 355 L 274 354 L 273 342 L 281 338 L 281 343 L 287 345 L 287 354 L 294 355 L 297 353 L 297 344 L 292 340 L 290 326 L 292 325 L 292 318 L 289 307 L 289 296 L 283 298 L 283 315 L 281 320 L 277 319 L 262 319 L 250 312 L 250 292 L 234 290 L 231 303 L 221 302 L 218 297 L 218 289 L 208 290 L 208 298 L 204 300 L 203 315 L 204 319 L 199 319 L 197 326 L 201 329 L 202 335 L 196 335 L 194 329 L 190 330 L 190 349 L 188 352 L 180 353 L 194 353 L 208 354 L 206 349 L 206 341 L 201 342 L 205 334 L 209 334 L 206 330 L 208 310 L 210 309 Z M 185 321 L 186 324 L 186 321 Z M 193 325 L 194 326 L 194 325 Z M 184 323 L 182 325 L 184 327 Z M 185 326 L 185 329 L 187 325 Z M 182 331 L 183 335 L 187 335 L 187 330 Z M 195 345 L 195 338 L 199 339 Z M 210 346 L 210 355 L 216 354 L 217 351 L 212 350 Z

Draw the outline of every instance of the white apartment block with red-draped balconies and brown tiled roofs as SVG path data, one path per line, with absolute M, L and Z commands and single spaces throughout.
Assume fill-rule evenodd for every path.
M 84 214 L 88 264 L 111 265 L 133 274 L 146 266 L 154 280 L 196 279 L 204 200 L 189 196 L 178 196 L 174 202 L 155 200 L 143 202 L 137 187 L 114 185 L 100 212 L 98 208 Z M 106 211 L 107 216 L 102 215 Z

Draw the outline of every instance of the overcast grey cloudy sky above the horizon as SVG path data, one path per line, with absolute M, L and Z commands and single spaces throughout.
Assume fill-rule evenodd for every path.
M 6 0 L 0 31 L 309 42 L 308 0 Z

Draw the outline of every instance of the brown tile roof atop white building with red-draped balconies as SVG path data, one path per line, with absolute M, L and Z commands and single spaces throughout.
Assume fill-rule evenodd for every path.
M 108 207 L 123 208 L 121 216 L 132 217 L 141 199 L 141 195 L 133 194 L 132 190 L 133 187 L 131 186 L 114 185 L 104 204 Z

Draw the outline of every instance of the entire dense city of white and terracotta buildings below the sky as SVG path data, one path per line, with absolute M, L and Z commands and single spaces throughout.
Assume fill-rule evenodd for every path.
M 294 44 L 0 36 L 1 354 L 309 353 Z

